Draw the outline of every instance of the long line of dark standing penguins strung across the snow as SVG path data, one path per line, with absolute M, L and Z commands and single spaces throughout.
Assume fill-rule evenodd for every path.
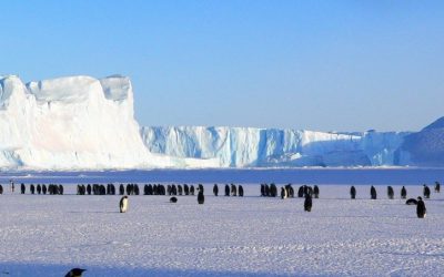
M 14 184 L 11 182 L 11 192 L 14 192 Z M 20 185 L 20 193 L 26 194 L 26 185 L 22 183 Z M 62 195 L 63 194 L 63 186 L 60 184 L 49 184 L 48 186 L 46 184 L 38 184 L 33 185 L 31 184 L 29 186 L 29 191 L 31 194 L 50 194 L 50 195 Z M 194 188 L 194 185 L 188 185 L 184 184 L 182 185 L 167 185 L 167 187 L 162 184 L 145 184 L 143 186 L 143 194 L 144 195 L 169 195 L 169 196 L 176 196 L 176 195 L 194 195 L 195 191 L 198 191 L 198 203 L 203 204 L 204 203 L 204 195 L 203 195 L 203 185 L 199 184 L 196 188 Z M 435 193 L 440 193 L 441 191 L 441 184 L 438 182 L 435 182 L 434 186 Z M 225 184 L 224 187 L 224 195 L 225 196 L 240 196 L 243 197 L 243 187 L 242 185 L 235 186 L 234 184 Z M 0 185 L 0 194 L 3 194 L 3 186 Z M 79 184 L 77 186 L 77 194 L 78 195 L 115 195 L 115 186 L 114 184 L 108 184 L 107 187 L 103 184 Z M 119 194 L 120 195 L 139 195 L 140 194 L 140 188 L 138 184 L 120 184 L 119 186 Z M 214 184 L 213 186 L 213 194 L 214 196 L 219 195 L 219 186 L 218 184 Z M 320 195 L 320 188 L 317 185 L 314 185 L 314 187 L 302 185 L 297 189 L 297 197 L 300 198 L 305 198 L 304 201 L 304 211 L 311 212 L 312 208 L 312 197 L 319 198 Z M 423 185 L 423 195 L 424 198 L 430 198 L 431 196 L 431 189 L 427 185 Z M 262 197 L 278 197 L 278 186 L 272 183 L 272 184 L 261 184 L 261 196 Z M 351 186 L 350 188 L 350 196 L 352 199 L 356 198 L 356 188 L 354 186 Z M 370 196 L 371 199 L 376 199 L 377 198 L 377 193 L 376 188 L 374 186 L 371 186 L 370 188 Z M 401 198 L 405 199 L 407 196 L 407 189 L 405 186 L 401 188 Z M 292 198 L 294 197 L 294 189 L 291 184 L 287 184 L 285 186 L 281 187 L 281 198 Z M 387 186 L 387 197 L 390 199 L 394 198 L 394 189 L 392 186 Z M 120 206 L 121 206 L 121 212 L 122 212 L 122 203 L 128 202 L 128 196 L 123 196 L 122 199 L 120 201 Z M 176 197 L 171 197 L 170 202 L 176 203 L 178 198 Z M 418 217 L 425 217 L 426 214 L 426 208 L 425 204 L 422 201 L 422 197 L 418 196 L 417 199 L 410 198 L 406 201 L 407 205 L 416 205 L 417 206 L 417 216 Z

